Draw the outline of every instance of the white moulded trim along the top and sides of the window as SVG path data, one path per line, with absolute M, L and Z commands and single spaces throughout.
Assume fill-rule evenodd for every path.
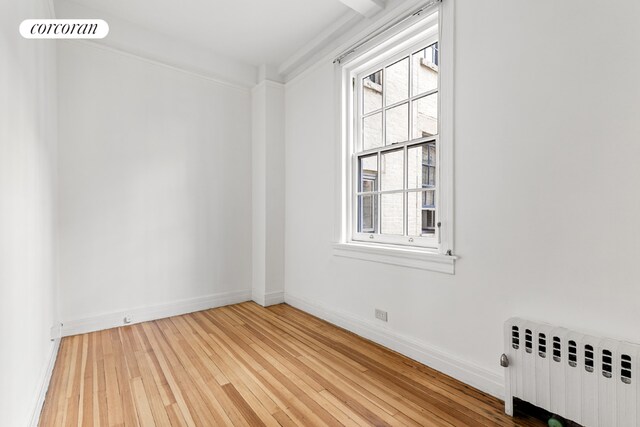
M 396 56 L 405 54 L 405 50 L 411 51 L 413 48 L 420 46 L 424 43 L 431 42 L 432 34 L 430 31 L 435 27 L 435 19 L 438 19 L 438 42 L 440 43 L 440 59 L 441 65 L 439 67 L 439 84 L 438 84 L 438 97 L 439 97 L 439 132 L 438 132 L 438 179 L 436 186 L 436 222 L 441 224 L 441 227 L 437 229 L 437 240 L 429 238 L 420 238 L 420 241 L 416 238 L 409 238 L 405 236 L 402 243 L 412 244 L 413 246 L 436 246 L 440 254 L 453 253 L 453 227 L 454 227 L 454 190 L 453 190 L 453 147 L 454 147 L 454 129 L 453 129 L 453 79 L 454 79 L 454 43 L 453 43 L 453 15 L 454 0 L 446 0 L 440 3 L 437 10 L 433 10 L 431 13 L 421 16 L 416 19 L 412 19 L 403 23 L 395 28 L 394 31 L 385 34 L 384 36 L 372 39 L 366 45 L 363 45 L 361 53 L 358 56 L 353 56 L 345 60 L 342 64 L 338 64 L 335 67 L 335 93 L 336 104 L 339 107 L 336 113 L 336 128 L 337 137 L 339 141 L 339 150 L 336 150 L 342 158 L 337 159 L 337 168 L 340 171 L 339 182 L 336 183 L 337 194 L 337 206 L 339 206 L 338 213 L 342 216 L 336 218 L 336 230 L 334 232 L 334 241 L 347 244 L 358 240 L 355 233 L 356 224 L 356 194 L 355 194 L 355 182 L 357 181 L 355 161 L 356 157 L 353 155 L 357 152 L 356 141 L 358 140 L 357 131 L 359 129 L 359 122 L 355 122 L 355 106 L 353 91 L 357 92 L 357 88 L 352 87 L 354 76 L 359 73 L 366 74 L 366 69 L 371 67 L 375 62 L 380 61 L 377 56 L 381 51 L 385 55 L 388 55 L 387 61 L 393 61 Z M 444 45 L 444 48 L 442 47 Z M 443 52 L 443 49 L 448 49 Z M 444 53 L 444 54 L 443 54 Z M 384 61 L 383 61 L 384 62 Z M 358 96 L 358 102 L 360 102 L 360 96 Z M 445 117 L 446 116 L 446 117 Z M 412 141 L 411 144 L 418 141 Z M 385 148 L 386 149 L 386 148 Z M 391 149 L 391 148 L 389 148 Z M 393 148 L 395 149 L 395 148 Z M 358 153 L 360 154 L 360 153 Z M 371 235 L 369 235 L 370 237 Z M 386 236 L 374 236 L 374 240 L 381 243 L 399 244 L 400 240 L 388 238 Z M 398 253 L 396 252 L 396 255 Z M 355 258 L 356 256 L 351 255 Z M 361 257 L 358 257 L 361 258 Z M 391 262 L 392 259 L 380 258 L 380 262 L 386 262 L 396 265 L 406 265 L 409 267 L 416 267 L 415 262 L 400 263 Z M 393 260 L 397 260 L 399 257 L 394 256 Z M 361 258 L 369 261 L 375 260 L 374 257 Z M 423 265 L 423 268 L 425 266 Z M 437 266 L 436 266 L 437 267 Z M 440 266 L 441 267 L 441 266 Z M 426 268 L 431 269 L 431 268 Z M 435 271 L 442 271 L 442 268 Z M 453 265 L 446 269 L 444 272 L 453 274 Z

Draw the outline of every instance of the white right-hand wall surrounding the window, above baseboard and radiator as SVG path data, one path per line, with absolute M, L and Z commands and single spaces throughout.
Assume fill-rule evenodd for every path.
M 456 0 L 455 18 L 456 274 L 332 255 L 327 57 L 286 88 L 285 298 L 499 394 L 510 316 L 640 342 L 640 3 Z

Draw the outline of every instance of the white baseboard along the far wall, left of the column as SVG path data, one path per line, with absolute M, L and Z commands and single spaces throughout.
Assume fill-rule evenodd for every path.
M 178 316 L 193 313 L 195 311 L 208 310 L 230 304 L 238 304 L 251 300 L 251 290 L 222 292 L 198 298 L 180 300 L 168 304 L 159 304 L 150 307 L 138 307 L 128 310 L 99 314 L 83 319 L 67 320 L 62 322 L 62 336 L 85 334 L 88 332 L 111 329 L 124 326 L 124 317 L 130 316 L 130 325 L 165 317 Z

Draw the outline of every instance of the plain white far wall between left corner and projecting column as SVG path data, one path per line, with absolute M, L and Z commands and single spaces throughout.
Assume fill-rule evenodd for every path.
M 65 328 L 249 298 L 249 90 L 95 44 L 58 55 Z

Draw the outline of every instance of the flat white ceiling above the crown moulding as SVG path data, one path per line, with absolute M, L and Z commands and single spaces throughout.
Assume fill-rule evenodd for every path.
M 340 0 L 74 0 L 246 64 L 280 65 L 354 12 Z

